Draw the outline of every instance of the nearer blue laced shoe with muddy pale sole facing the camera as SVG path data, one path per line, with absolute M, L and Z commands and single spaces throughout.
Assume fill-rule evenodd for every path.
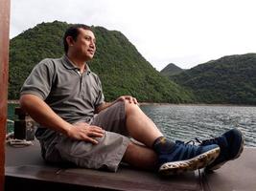
M 158 154 L 160 175 L 174 175 L 203 168 L 213 162 L 220 154 L 216 144 L 196 146 L 176 140 L 169 151 Z

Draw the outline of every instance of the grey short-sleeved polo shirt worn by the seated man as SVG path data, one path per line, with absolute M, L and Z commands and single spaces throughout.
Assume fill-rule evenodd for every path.
M 98 75 L 92 73 L 88 65 L 81 74 L 66 55 L 38 63 L 20 94 L 41 97 L 59 117 L 71 123 L 89 120 L 96 107 L 104 103 Z

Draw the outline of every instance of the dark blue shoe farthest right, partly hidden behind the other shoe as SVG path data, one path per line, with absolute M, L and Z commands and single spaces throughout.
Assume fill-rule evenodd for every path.
M 221 153 L 214 162 L 206 166 L 206 171 L 219 169 L 228 160 L 239 158 L 244 149 L 244 138 L 240 130 L 232 129 L 222 134 L 219 138 L 203 140 L 199 145 L 207 146 L 211 144 L 218 144 L 221 148 Z

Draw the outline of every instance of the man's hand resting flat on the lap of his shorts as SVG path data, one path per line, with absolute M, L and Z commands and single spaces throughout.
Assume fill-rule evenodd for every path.
M 95 138 L 103 138 L 105 135 L 105 130 L 101 127 L 89 125 L 85 122 L 78 122 L 72 125 L 68 131 L 68 137 L 84 140 L 97 144 L 98 141 Z

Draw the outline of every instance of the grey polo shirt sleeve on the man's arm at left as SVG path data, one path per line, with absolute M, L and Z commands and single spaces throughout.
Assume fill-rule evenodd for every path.
M 20 96 L 35 95 L 43 100 L 49 95 L 53 84 L 55 67 L 51 59 L 44 59 L 35 65 L 32 73 L 25 80 Z

